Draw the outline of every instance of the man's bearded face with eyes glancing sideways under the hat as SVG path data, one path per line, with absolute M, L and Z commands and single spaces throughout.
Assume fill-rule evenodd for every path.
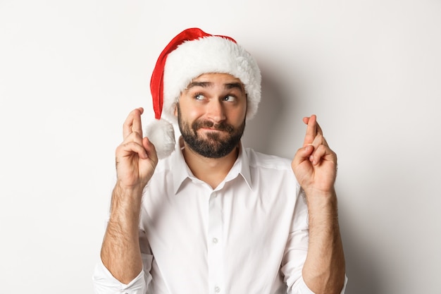
M 224 157 L 237 147 L 246 113 L 242 82 L 225 73 L 206 73 L 192 80 L 175 111 L 188 147 L 209 158 Z

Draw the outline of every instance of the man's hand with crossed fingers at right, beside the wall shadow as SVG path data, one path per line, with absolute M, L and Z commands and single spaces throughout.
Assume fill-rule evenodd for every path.
M 334 191 L 337 176 L 337 155 L 328 147 L 315 115 L 303 118 L 306 135 L 303 147 L 292 160 L 292 171 L 306 196 Z

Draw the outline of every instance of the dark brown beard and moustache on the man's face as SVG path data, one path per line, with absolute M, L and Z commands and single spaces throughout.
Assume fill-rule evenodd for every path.
M 245 120 L 235 128 L 225 122 L 213 123 L 212 121 L 194 121 L 191 125 L 182 121 L 178 104 L 178 125 L 182 138 L 187 145 L 197 154 L 207 158 L 221 158 L 230 154 L 237 145 L 245 130 Z M 228 137 L 222 139 L 219 132 L 206 132 L 206 137 L 201 137 L 197 133 L 199 128 L 213 128 L 228 133 Z

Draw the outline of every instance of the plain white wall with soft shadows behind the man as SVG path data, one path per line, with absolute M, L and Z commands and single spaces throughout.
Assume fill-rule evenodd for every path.
M 440 294 L 439 0 L 0 0 L 1 293 L 92 293 L 122 123 L 187 27 L 261 66 L 245 145 L 292 157 L 318 115 L 347 293 Z

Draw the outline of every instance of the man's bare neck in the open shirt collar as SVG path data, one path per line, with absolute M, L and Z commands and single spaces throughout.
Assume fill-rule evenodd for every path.
M 216 188 L 227 176 L 239 156 L 239 146 L 232 150 L 225 157 L 208 158 L 194 152 L 185 142 L 182 149 L 185 162 L 194 176 Z

